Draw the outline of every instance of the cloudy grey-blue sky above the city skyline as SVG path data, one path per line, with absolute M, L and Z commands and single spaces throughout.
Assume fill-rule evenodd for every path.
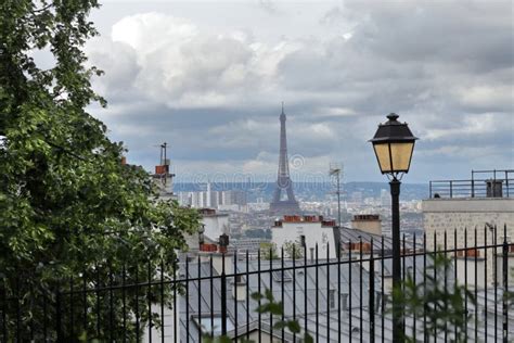
M 272 179 L 279 114 L 295 178 L 343 163 L 383 181 L 368 142 L 396 112 L 420 137 L 407 182 L 514 167 L 511 1 L 115 1 L 93 12 L 91 113 L 182 180 Z

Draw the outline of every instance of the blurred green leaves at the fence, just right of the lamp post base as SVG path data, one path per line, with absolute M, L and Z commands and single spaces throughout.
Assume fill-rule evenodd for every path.
M 452 261 L 441 253 L 431 256 L 432 264 L 424 270 L 426 283 L 414 282 L 411 275 L 402 284 L 394 290 L 393 297 L 400 302 L 399 309 L 409 317 L 424 318 L 426 323 L 420 333 L 435 336 L 438 332 L 445 332 L 451 338 L 451 342 L 465 342 L 467 321 L 472 318 L 465 310 L 466 301 L 475 304 L 476 300 L 472 292 L 457 282 L 448 282 L 445 285 L 444 276 L 451 274 Z M 472 305 L 473 306 L 473 305 Z M 413 342 L 412 338 L 404 338 L 407 342 Z

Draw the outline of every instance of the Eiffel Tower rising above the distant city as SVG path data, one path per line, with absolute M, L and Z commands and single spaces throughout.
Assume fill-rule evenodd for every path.
M 285 192 L 287 195 L 286 200 L 281 200 L 282 192 Z M 298 202 L 295 200 L 295 194 L 293 193 L 293 181 L 290 177 L 284 103 L 282 103 L 282 114 L 280 115 L 279 175 L 277 178 L 277 188 L 273 193 L 273 201 L 270 203 L 270 212 L 278 215 L 294 215 L 300 213 Z

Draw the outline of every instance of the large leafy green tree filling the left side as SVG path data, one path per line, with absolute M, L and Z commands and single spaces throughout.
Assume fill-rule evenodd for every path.
M 124 271 L 126 282 L 133 283 L 146 270 L 157 272 L 162 263 L 170 275 L 176 251 L 185 247 L 182 233 L 198 226 L 195 212 L 156 200 L 147 173 L 121 164 L 123 143 L 112 142 L 105 125 L 86 111 L 92 103 L 106 104 L 90 85 L 102 72 L 85 66 L 82 51 L 98 34 L 87 20 L 95 8 L 95 0 L 0 4 L 0 300 L 22 300 L 3 301 L 0 309 L 8 329 L 15 326 L 16 313 L 23 314 L 21 341 L 28 341 L 29 333 L 42 341 L 43 322 L 55 323 L 57 307 L 64 321 L 79 318 L 83 305 L 97 304 L 87 296 L 87 304 L 72 310 L 65 296 L 60 302 L 59 294 L 72 284 L 116 283 Z M 35 50 L 51 54 L 54 65 L 40 67 Z M 141 304 L 147 295 L 167 304 L 170 298 L 169 290 L 164 297 L 139 293 Z M 133 341 L 133 313 L 140 304 L 127 303 L 132 315 L 121 330 L 120 302 L 114 295 L 110 331 Z M 139 309 L 142 326 L 150 314 L 144 306 Z M 102 339 L 106 332 L 97 332 L 93 321 L 107 321 L 107 312 L 99 307 L 100 318 L 91 313 L 86 323 L 63 325 L 61 338 Z M 48 340 L 55 334 L 49 330 Z

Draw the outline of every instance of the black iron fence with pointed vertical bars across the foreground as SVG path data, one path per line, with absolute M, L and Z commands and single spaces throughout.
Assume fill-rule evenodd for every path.
M 406 335 L 414 341 L 453 341 L 450 323 L 428 330 L 428 313 L 464 306 L 465 341 L 507 342 L 514 338 L 512 301 L 514 244 L 506 227 L 439 232 L 402 241 L 402 278 L 422 292 L 428 280 L 464 287 L 462 304 L 427 302 L 421 313 L 406 308 Z M 348 244 L 349 243 L 349 244 Z M 164 266 L 128 267 L 118 275 L 62 280 L 38 298 L 0 293 L 1 342 L 202 342 L 224 335 L 232 341 L 300 342 L 308 332 L 314 342 L 390 342 L 391 256 L 384 239 L 345 242 L 337 258 L 330 246 L 307 251 L 183 254 L 174 272 Z M 451 261 L 436 270 L 435 251 Z M 291 258 L 294 256 L 295 258 Z M 268 258 L 268 259 L 265 259 Z M 22 280 L 20 280 L 22 282 Z M 403 285 L 406 287 L 406 285 Z M 425 287 L 425 288 L 424 288 Z M 258 310 L 272 295 L 275 315 Z M 165 300 L 165 301 L 163 301 Z M 441 303 L 442 302 L 442 303 Z M 437 307 L 439 306 L 439 307 Z M 35 318 L 43 318 L 36 321 Z M 299 332 L 278 322 L 294 320 Z

